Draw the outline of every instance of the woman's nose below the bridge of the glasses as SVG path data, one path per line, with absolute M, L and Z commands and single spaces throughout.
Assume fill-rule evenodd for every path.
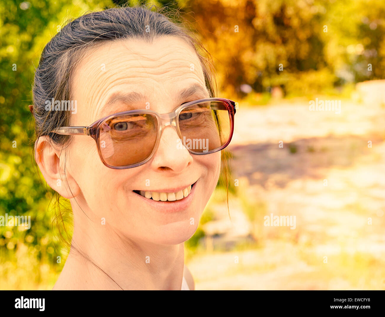
M 173 125 L 163 128 L 151 167 L 155 170 L 167 170 L 179 174 L 192 164 L 192 160 L 192 155 L 182 146 L 176 128 Z

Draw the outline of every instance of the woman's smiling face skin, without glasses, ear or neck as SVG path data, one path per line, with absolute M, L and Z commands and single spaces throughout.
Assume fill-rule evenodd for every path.
M 87 126 L 112 113 L 146 109 L 146 105 L 158 113 L 172 112 L 182 103 L 210 97 L 196 53 L 174 37 L 153 43 L 105 43 L 84 55 L 71 85 L 72 98 L 77 100 L 71 126 Z M 179 92 L 194 85 L 201 89 L 181 98 Z M 114 98 L 108 102 L 112 94 L 131 92 L 138 93 L 136 101 Z M 149 162 L 118 170 L 101 162 L 91 137 L 74 136 L 65 154 L 66 173 L 78 187 L 77 203 L 95 224 L 105 218 L 110 229 L 134 241 L 186 241 L 196 231 L 217 184 L 220 152 L 192 155 L 177 146 L 178 138 L 174 126 L 165 127 Z M 195 182 L 187 198 L 174 202 L 155 201 L 134 192 L 178 192 Z M 76 227 L 81 224 L 76 224 L 75 215 Z

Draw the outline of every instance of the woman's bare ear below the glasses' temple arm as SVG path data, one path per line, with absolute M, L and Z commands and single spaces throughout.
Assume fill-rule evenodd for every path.
M 48 136 L 39 137 L 35 143 L 35 160 L 47 184 L 64 198 L 74 198 L 80 193 L 80 187 L 65 170 L 65 153 L 56 148 Z

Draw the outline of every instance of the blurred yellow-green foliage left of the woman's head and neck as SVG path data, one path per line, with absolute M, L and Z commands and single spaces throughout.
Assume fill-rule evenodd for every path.
M 25 267 L 33 269 L 34 282 L 39 284 L 42 282 L 39 267 L 56 266 L 57 256 L 63 254 L 56 248 L 57 230 L 51 230 L 53 213 L 48 205 L 52 191 L 48 192 L 32 158 L 34 132 L 28 105 L 32 103 L 34 66 L 39 63 L 44 45 L 65 20 L 87 10 L 102 9 L 112 2 L 79 0 L 73 5 L 64 1 L 30 0 L 28 3 L 4 0 L 0 5 L 0 215 L 31 219 L 29 230 L 0 226 L 0 271 L 7 276 L 7 267 L 2 264 L 16 261 L 16 255 L 26 248 L 28 255 L 23 257 L 31 260 Z M 18 267 L 22 267 L 20 261 Z

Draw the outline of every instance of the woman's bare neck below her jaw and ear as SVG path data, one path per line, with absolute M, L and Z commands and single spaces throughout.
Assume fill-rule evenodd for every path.
M 117 232 L 107 222 L 90 219 L 77 205 L 72 210 L 71 250 L 54 290 L 181 289 L 184 243 L 159 245 L 138 240 Z

